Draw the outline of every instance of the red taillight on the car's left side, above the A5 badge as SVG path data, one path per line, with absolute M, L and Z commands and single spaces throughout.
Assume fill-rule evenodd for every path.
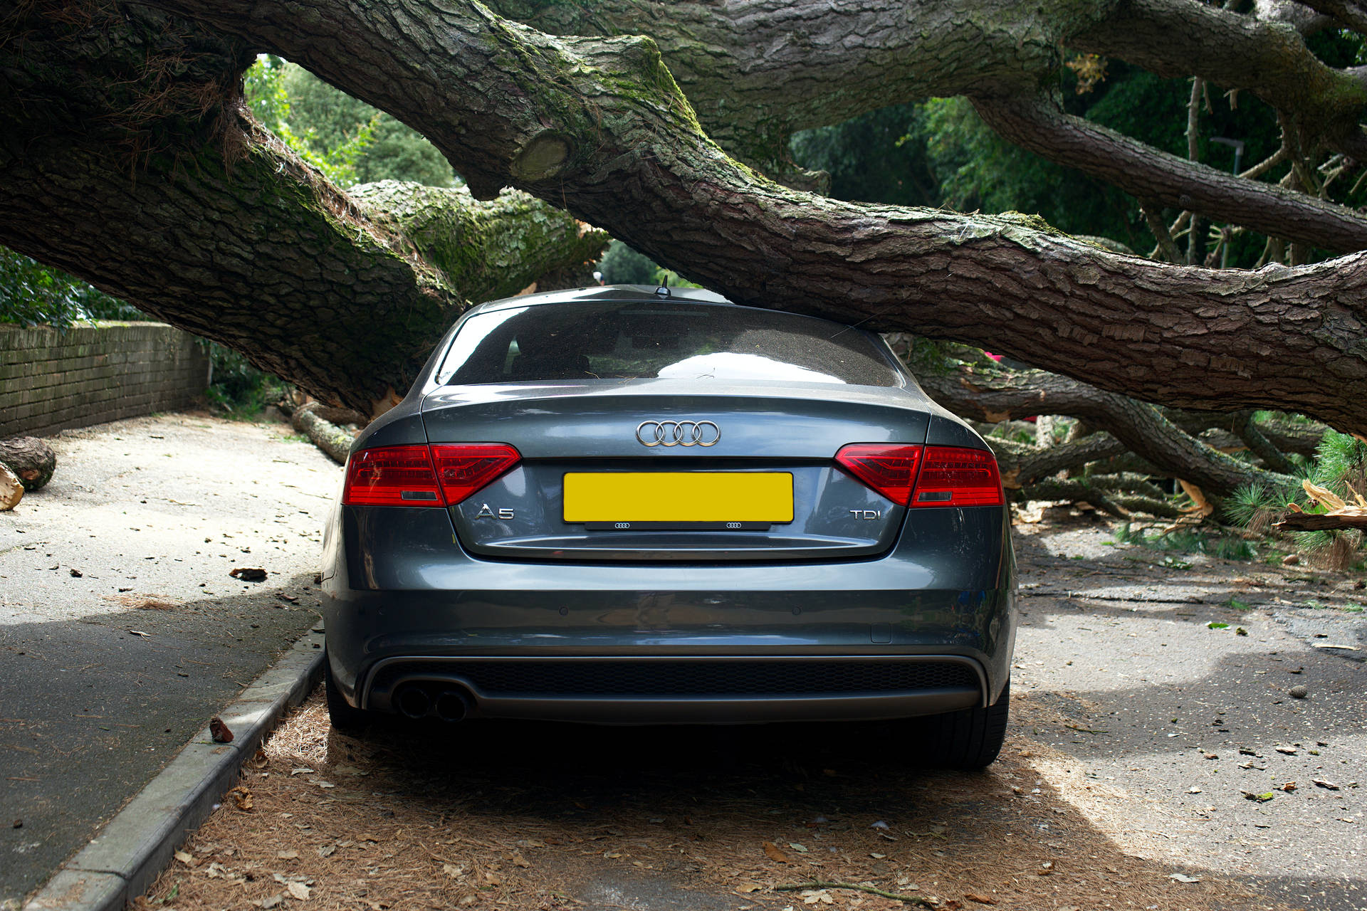
M 518 451 L 503 443 L 361 449 L 347 462 L 342 503 L 365 507 L 455 505 L 519 459 Z

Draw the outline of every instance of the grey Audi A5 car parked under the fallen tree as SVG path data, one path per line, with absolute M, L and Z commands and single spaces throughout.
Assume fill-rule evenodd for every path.
M 357 438 L 323 575 L 339 728 L 879 718 L 957 768 L 1005 735 L 987 445 L 878 336 L 707 291 L 473 307 Z

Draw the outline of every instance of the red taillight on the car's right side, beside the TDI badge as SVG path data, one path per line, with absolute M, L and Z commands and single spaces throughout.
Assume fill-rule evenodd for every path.
M 1002 481 L 986 449 L 856 443 L 835 462 L 899 505 L 999 507 Z

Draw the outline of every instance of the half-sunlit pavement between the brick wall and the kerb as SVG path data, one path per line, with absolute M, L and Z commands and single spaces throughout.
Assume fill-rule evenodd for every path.
M 317 623 L 340 468 L 290 433 L 183 414 L 68 430 L 52 482 L 0 512 L 0 907 Z

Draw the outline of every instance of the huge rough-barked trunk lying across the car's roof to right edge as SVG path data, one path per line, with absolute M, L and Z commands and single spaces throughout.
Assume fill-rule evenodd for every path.
M 740 303 L 991 347 L 1151 402 L 1367 429 L 1364 255 L 1255 273 L 1173 268 L 1038 219 L 794 191 L 703 134 L 648 38 L 560 40 L 458 1 L 157 5 L 394 113 L 477 198 L 524 188 Z

